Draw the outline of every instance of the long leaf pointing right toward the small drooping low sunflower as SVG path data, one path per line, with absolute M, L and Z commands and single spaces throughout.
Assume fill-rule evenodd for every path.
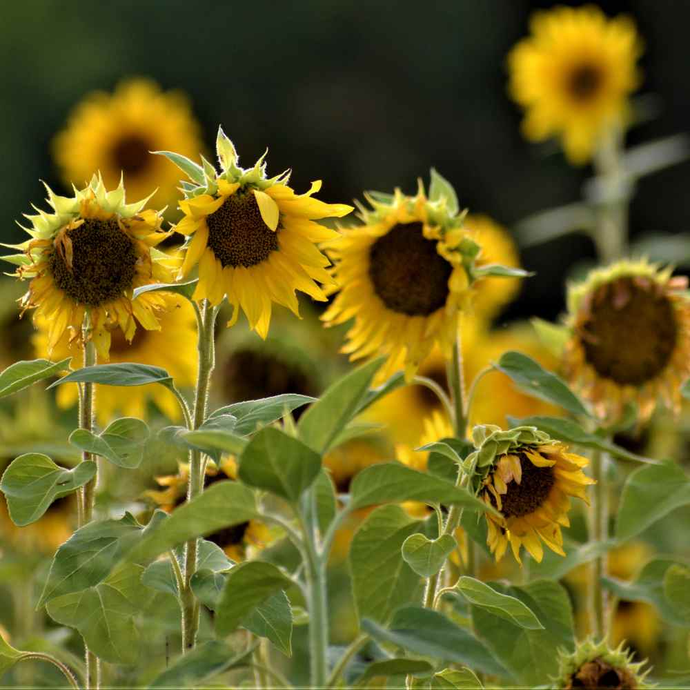
M 399 462 L 382 462 L 357 473 L 350 487 L 352 509 L 378 503 L 421 501 L 457 504 L 471 511 L 492 509 L 465 489 Z

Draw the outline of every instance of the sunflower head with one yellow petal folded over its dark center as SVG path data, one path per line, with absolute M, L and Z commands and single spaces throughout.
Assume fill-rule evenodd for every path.
M 317 242 L 337 237 L 316 219 L 342 217 L 353 210 L 346 204 L 325 204 L 313 195 L 316 181 L 301 195 L 288 186 L 289 170 L 266 177 L 262 156 L 247 170 L 237 165 L 235 146 L 219 128 L 216 141 L 220 172 L 202 157 L 204 167 L 163 152 L 190 177 L 182 183 L 184 218 L 175 228 L 190 237 L 181 275 L 199 265 L 194 299 L 220 304 L 227 295 L 235 324 L 239 308 L 262 338 L 268 334 L 273 302 L 299 315 L 295 290 L 324 301 L 315 281 L 332 284 L 328 259 Z

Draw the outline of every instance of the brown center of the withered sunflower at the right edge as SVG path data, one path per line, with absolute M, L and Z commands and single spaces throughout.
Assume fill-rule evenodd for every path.
M 676 348 L 678 325 L 666 295 L 620 278 L 595 293 L 582 324 L 587 362 L 603 378 L 641 386 L 659 375 Z

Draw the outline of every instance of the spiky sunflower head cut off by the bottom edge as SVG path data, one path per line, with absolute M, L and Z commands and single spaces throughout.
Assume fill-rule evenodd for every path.
M 616 649 L 611 649 L 605 640 L 599 643 L 591 639 L 584 640 L 578 643 L 572 653 L 561 653 L 555 687 L 559 690 L 652 688 L 653 685 L 644 682 L 651 671 L 642 671 L 645 663 L 633 663 L 632 654 L 623 647 L 622 642 Z

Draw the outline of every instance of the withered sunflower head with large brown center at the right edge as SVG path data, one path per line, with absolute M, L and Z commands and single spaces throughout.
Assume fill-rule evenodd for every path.
M 566 374 L 601 417 L 629 403 L 649 420 L 658 400 L 680 411 L 690 375 L 687 277 L 641 260 L 599 268 L 568 293 Z

